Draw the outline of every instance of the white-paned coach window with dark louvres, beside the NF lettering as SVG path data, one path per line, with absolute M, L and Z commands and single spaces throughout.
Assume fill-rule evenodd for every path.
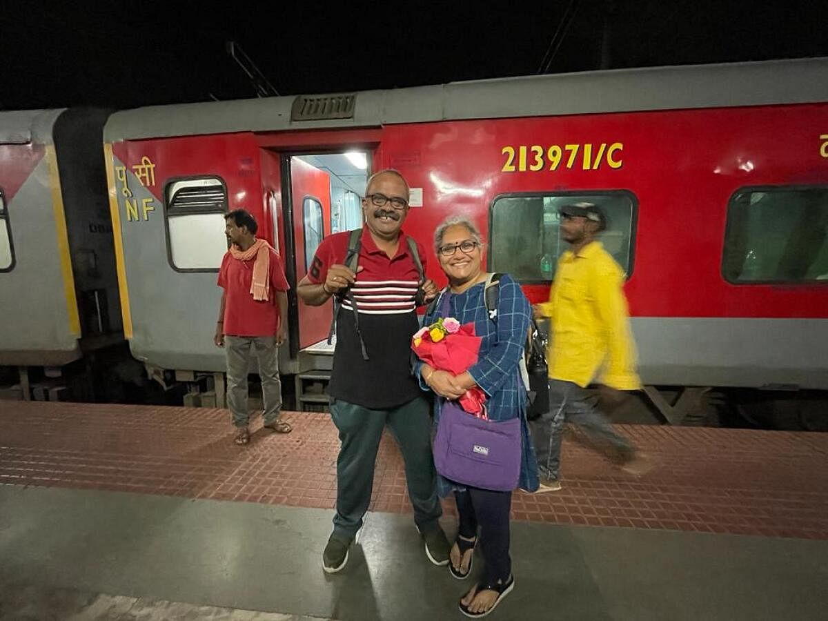
M 217 271 L 227 252 L 224 181 L 217 176 L 175 179 L 167 182 L 165 195 L 172 267 L 183 272 Z

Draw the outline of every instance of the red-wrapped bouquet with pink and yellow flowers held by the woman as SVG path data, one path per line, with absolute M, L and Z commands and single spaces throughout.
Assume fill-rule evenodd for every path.
M 454 317 L 440 317 L 423 326 L 412 337 L 412 349 L 424 363 L 439 371 L 460 375 L 477 362 L 481 338 L 474 335 L 474 324 L 460 325 Z M 486 393 L 478 386 L 470 388 L 457 400 L 465 412 L 487 418 Z

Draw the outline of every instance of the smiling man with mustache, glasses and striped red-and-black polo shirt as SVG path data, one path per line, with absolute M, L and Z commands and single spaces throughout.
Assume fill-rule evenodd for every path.
M 335 295 L 342 305 L 329 388 L 341 442 L 336 515 L 322 566 L 335 573 L 348 562 L 371 502 L 374 462 L 386 425 L 405 460 L 408 497 L 426 556 L 435 565 L 446 565 L 449 542 L 438 522 L 442 512 L 431 456 L 430 407 L 409 367 L 411 338 L 419 328 L 417 293 L 422 289 L 425 301 L 431 301 L 437 287 L 431 280 L 420 282 L 402 232 L 408 214 L 408 184 L 402 175 L 393 170 L 373 175 L 362 207 L 357 273 L 344 265 L 350 233 L 336 233 L 320 243 L 297 288 L 311 306 Z M 416 247 L 425 272 L 425 252 L 419 243 Z

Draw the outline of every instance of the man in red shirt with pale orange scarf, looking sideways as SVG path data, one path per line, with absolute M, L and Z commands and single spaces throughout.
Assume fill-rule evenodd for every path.
M 248 368 L 253 355 L 259 363 L 264 395 L 264 426 L 290 433 L 279 420 L 282 381 L 279 378 L 279 346 L 287 334 L 287 294 L 282 258 L 264 239 L 256 238 L 258 224 L 244 209 L 225 216 L 224 234 L 230 249 L 219 269 L 221 296 L 215 344 L 226 346 L 227 402 L 238 429 L 235 443 L 248 444 Z

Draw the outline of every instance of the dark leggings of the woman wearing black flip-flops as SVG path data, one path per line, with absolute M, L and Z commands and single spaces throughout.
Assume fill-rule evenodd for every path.
M 512 573 L 509 557 L 509 509 L 512 492 L 493 492 L 489 489 L 467 487 L 455 492 L 457 514 L 460 518 L 460 536 L 471 538 L 480 527 L 480 546 L 486 563 L 481 584 L 504 582 Z

